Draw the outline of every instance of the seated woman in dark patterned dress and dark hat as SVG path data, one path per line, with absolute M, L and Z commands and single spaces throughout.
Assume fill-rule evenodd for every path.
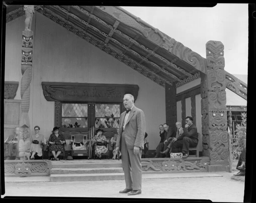
M 60 128 L 60 127 L 59 127 Z M 50 135 L 49 138 L 49 144 L 51 144 L 49 146 L 49 151 L 52 152 L 54 159 L 53 160 L 60 160 L 58 158 L 58 156 L 64 152 L 64 143 L 66 143 L 65 138 L 63 137 L 63 135 L 61 133 L 59 133 L 59 128 L 58 127 L 54 127 L 53 128 L 53 133 Z M 57 152 L 57 153 L 56 153 Z

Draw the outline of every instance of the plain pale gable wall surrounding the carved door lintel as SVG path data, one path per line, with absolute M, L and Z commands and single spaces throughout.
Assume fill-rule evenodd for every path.
M 22 16 L 6 24 L 5 81 L 21 80 L 24 20 Z M 145 113 L 149 149 L 156 149 L 160 141 L 158 126 L 166 122 L 165 88 L 39 13 L 33 17 L 32 30 L 31 129 L 39 125 L 40 133 L 48 139 L 54 127 L 54 102 L 45 99 L 42 81 L 137 84 L 135 105 Z M 21 99 L 20 84 L 15 99 Z

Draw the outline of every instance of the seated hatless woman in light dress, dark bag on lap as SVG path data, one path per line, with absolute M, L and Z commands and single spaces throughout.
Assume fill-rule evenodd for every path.
M 35 159 L 35 154 L 37 153 L 38 156 L 42 156 L 42 143 L 45 142 L 44 136 L 39 134 L 40 127 L 35 126 L 34 127 L 35 134 L 31 135 L 30 137 L 30 143 L 31 148 L 30 152 L 32 153 L 30 159 Z

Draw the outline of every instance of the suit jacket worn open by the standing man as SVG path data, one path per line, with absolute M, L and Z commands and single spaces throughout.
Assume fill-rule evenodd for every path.
M 134 146 L 137 146 L 143 150 L 144 136 L 146 131 L 146 121 L 144 112 L 141 109 L 134 106 L 129 114 L 123 132 L 125 115 L 126 111 L 124 111 L 120 116 L 120 133 L 117 136 L 116 147 L 119 147 L 119 150 L 121 151 L 121 139 L 123 139 L 122 134 L 125 133 L 124 139 L 128 149 L 133 149 Z

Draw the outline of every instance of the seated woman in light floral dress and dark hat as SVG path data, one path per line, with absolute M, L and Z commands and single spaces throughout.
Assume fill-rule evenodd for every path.
M 106 153 L 108 151 L 107 139 L 104 135 L 102 135 L 102 132 L 104 131 L 100 128 L 96 130 L 96 135 L 92 139 L 92 145 L 94 145 L 94 152 L 99 158 L 101 158 L 101 155 L 103 153 Z

